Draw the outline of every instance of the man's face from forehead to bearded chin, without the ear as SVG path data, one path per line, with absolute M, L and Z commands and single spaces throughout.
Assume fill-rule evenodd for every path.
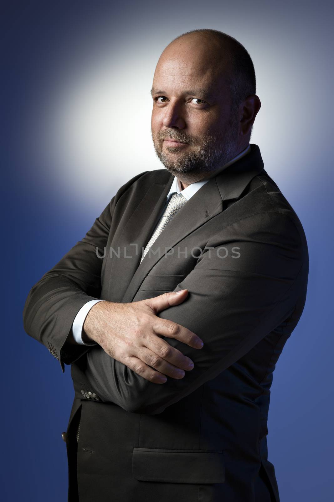
M 179 39 L 167 46 L 155 70 L 154 149 L 184 182 L 205 178 L 238 153 L 238 110 L 232 106 L 228 63 L 217 60 L 217 53 L 203 38 Z

